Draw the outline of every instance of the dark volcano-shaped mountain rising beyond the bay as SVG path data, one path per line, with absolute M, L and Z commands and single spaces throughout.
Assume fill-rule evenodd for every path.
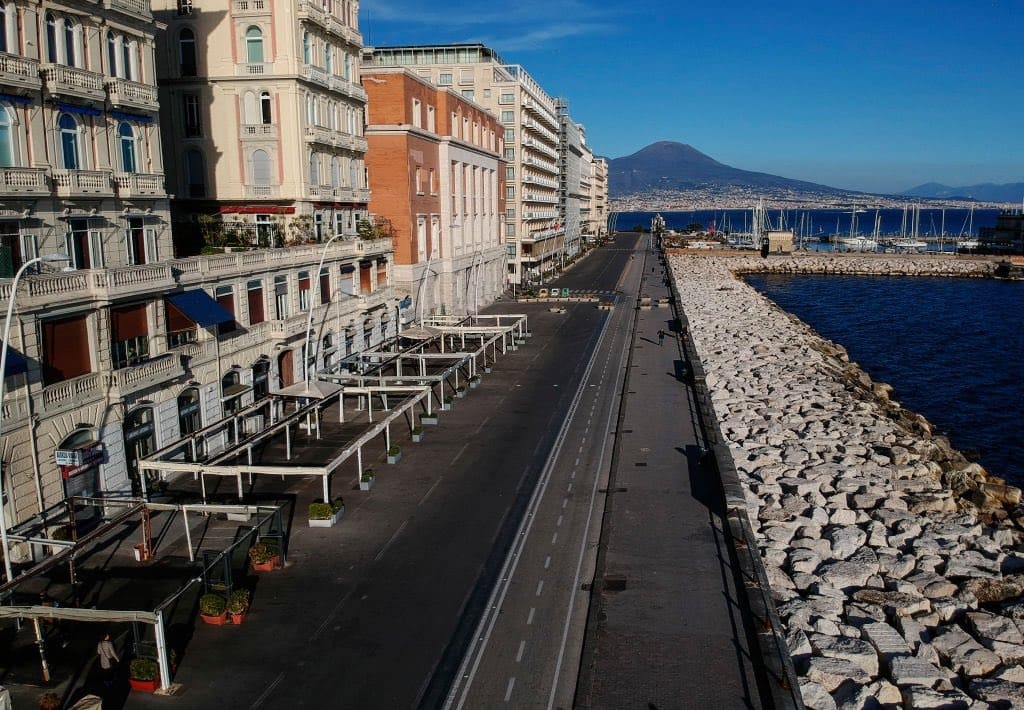
M 793 190 L 827 195 L 850 192 L 816 182 L 740 170 L 718 162 L 692 145 L 673 140 L 660 140 L 631 156 L 608 161 L 608 192 L 612 197 L 654 190 L 686 191 L 709 185 Z

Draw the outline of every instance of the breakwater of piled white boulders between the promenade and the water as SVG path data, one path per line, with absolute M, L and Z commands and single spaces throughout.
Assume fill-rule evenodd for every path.
M 670 257 L 805 703 L 1024 707 L 1020 490 L 737 279 L 741 263 Z

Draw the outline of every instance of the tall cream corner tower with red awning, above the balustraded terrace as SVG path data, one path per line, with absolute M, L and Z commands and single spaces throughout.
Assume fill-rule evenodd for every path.
M 354 236 L 370 199 L 358 3 L 154 9 L 167 25 L 157 67 L 179 248 Z

